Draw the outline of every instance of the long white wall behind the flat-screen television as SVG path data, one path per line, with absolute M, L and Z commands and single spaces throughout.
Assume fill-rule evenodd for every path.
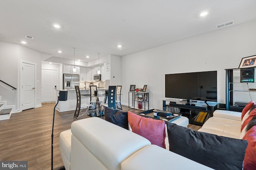
M 150 108 L 161 108 L 165 74 L 212 70 L 218 71 L 218 103 L 226 103 L 224 69 L 256 55 L 255 29 L 256 20 L 122 57 L 122 103 L 128 104 L 130 84 L 147 84 Z

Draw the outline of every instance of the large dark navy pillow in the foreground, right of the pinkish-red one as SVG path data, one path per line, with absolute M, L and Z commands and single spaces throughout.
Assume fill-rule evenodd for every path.
M 246 140 L 166 124 L 170 151 L 216 170 L 242 170 Z

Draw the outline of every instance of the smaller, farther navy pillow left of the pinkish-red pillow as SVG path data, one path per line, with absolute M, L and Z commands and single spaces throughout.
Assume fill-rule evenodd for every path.
M 124 129 L 128 130 L 128 113 L 127 111 L 114 110 L 110 107 L 104 106 L 105 120 Z

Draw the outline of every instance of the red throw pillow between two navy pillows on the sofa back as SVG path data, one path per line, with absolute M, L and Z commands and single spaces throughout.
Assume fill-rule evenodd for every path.
M 165 147 L 165 123 L 163 120 L 155 120 L 136 115 L 128 111 L 128 122 L 132 132 L 148 139 L 151 144 Z

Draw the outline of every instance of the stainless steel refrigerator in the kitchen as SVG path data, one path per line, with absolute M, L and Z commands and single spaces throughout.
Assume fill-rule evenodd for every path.
M 63 89 L 75 89 L 79 81 L 79 74 L 63 74 Z

